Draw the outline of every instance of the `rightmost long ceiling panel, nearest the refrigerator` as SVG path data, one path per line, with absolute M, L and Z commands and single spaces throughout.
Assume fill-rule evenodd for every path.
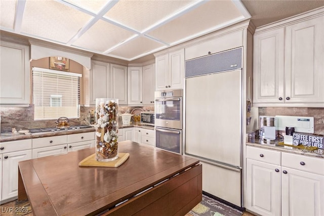
M 215 11 L 217 8 L 222 10 Z M 148 32 L 148 35 L 174 45 L 233 24 L 239 18 L 244 17 L 232 1 L 210 1 Z

